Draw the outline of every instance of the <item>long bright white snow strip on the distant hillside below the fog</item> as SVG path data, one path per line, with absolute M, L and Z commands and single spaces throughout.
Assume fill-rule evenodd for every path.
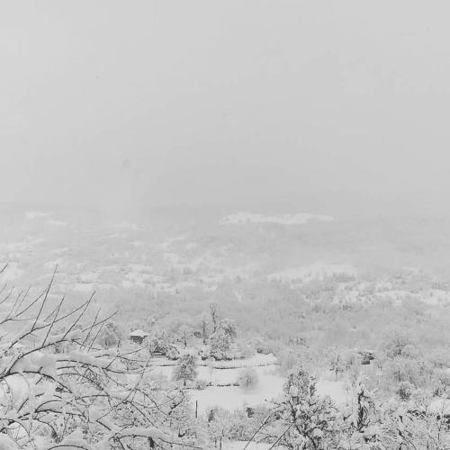
M 280 225 L 303 225 L 309 220 L 330 221 L 335 219 L 331 216 L 311 214 L 308 212 L 266 216 L 264 214 L 254 214 L 251 212 L 241 211 L 223 217 L 220 220 L 220 225 L 236 225 L 239 223 L 278 223 Z

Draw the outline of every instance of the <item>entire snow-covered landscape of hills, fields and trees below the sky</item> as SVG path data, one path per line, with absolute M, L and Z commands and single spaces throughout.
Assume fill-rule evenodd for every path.
M 4 448 L 392 448 L 400 411 L 408 436 L 446 442 L 450 274 L 427 249 L 436 220 L 380 261 L 371 220 L 356 238 L 348 219 L 227 217 L 4 209 Z M 304 428 L 283 435 L 299 408 Z

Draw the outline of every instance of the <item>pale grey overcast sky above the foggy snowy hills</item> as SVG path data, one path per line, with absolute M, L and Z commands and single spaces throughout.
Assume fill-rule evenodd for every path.
M 449 14 L 447 1 L 4 1 L 0 199 L 450 194 Z

